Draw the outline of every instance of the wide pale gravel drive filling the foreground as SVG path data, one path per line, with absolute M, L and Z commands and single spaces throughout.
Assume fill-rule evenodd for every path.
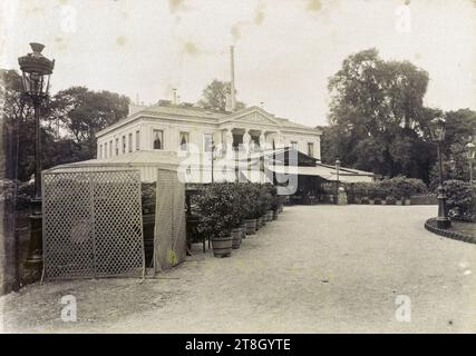
M 231 258 L 195 255 L 134 279 L 50 283 L 2 297 L 4 332 L 476 332 L 476 245 L 424 229 L 434 206 L 297 206 Z M 60 320 L 64 295 L 78 322 Z M 411 322 L 396 319 L 408 296 Z

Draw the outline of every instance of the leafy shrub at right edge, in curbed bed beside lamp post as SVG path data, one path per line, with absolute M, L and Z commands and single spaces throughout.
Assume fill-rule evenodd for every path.
M 451 217 L 476 220 L 476 189 L 469 182 L 446 180 L 446 204 Z

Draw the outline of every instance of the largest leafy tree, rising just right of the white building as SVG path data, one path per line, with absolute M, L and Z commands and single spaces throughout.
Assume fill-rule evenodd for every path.
M 323 161 L 338 156 L 344 166 L 428 181 L 435 154 L 427 127 L 436 115 L 422 105 L 428 80 L 425 70 L 385 61 L 376 49 L 349 56 L 329 80 Z

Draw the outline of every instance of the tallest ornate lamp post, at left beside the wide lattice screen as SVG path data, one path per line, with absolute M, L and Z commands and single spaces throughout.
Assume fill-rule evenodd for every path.
M 42 217 L 41 217 L 41 105 L 48 99 L 49 79 L 55 60 L 41 55 L 45 46 L 30 43 L 32 53 L 18 58 L 21 70 L 23 98 L 31 100 L 35 108 L 35 197 L 31 199 L 30 241 L 27 264 L 39 266 L 42 263 Z

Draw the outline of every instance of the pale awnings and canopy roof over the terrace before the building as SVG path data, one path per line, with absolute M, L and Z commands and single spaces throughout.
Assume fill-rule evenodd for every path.
M 207 184 L 212 181 L 282 181 L 279 176 L 298 175 L 300 180 L 337 181 L 336 167 L 323 165 L 315 158 L 292 148 L 263 150 L 260 152 L 236 152 L 236 155 L 183 155 L 181 157 L 169 151 L 134 151 L 128 155 L 114 156 L 103 159 L 90 159 L 80 162 L 57 166 L 52 169 L 84 169 L 98 167 L 114 169 L 119 167 L 136 168 L 140 180 L 154 182 L 157 180 L 157 168 L 176 170 L 183 182 Z M 313 178 L 314 177 L 314 178 Z M 278 179 L 276 179 L 278 178 Z M 373 174 L 353 168 L 339 168 L 339 181 L 358 182 L 371 181 Z

